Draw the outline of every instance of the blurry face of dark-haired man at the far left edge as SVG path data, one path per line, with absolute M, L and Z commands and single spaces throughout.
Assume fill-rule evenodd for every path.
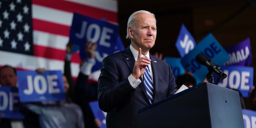
M 16 87 L 17 76 L 10 67 L 5 67 L 0 71 L 0 84 L 2 86 Z

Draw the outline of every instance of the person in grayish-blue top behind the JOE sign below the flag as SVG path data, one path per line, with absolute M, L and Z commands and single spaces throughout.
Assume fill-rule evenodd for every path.
M 36 70 L 43 73 L 43 68 Z M 62 101 L 33 102 L 26 107 L 39 115 L 41 128 L 84 128 L 82 109 L 68 96 L 70 85 L 67 77 L 62 76 L 66 98 Z

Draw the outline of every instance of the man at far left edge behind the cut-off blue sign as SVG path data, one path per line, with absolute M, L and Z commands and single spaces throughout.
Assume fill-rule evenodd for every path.
M 8 64 L 0 68 L 0 86 L 17 88 L 18 78 L 16 69 Z M 39 128 L 38 115 L 31 112 L 24 104 L 18 104 L 24 119 L 0 118 L 0 128 Z

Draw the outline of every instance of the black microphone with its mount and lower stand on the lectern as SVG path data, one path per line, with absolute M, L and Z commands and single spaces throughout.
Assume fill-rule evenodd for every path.
M 221 68 L 219 65 L 215 65 L 212 60 L 210 60 L 208 57 L 202 55 L 202 54 L 197 54 L 196 55 L 196 60 L 206 66 L 208 68 L 209 73 L 206 75 L 209 82 L 213 83 L 213 76 L 212 74 L 215 73 L 218 75 L 218 80 L 215 84 L 218 84 L 218 82 L 220 82 L 221 80 L 223 80 L 224 78 L 227 77 L 227 74 L 225 74 L 224 72 L 222 72 Z

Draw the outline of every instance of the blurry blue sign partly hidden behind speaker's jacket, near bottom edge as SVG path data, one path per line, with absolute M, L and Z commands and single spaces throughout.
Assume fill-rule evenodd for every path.
M 101 122 L 100 128 L 106 128 L 106 112 L 100 110 L 98 101 L 92 101 L 89 103 L 95 118 L 98 118 Z

